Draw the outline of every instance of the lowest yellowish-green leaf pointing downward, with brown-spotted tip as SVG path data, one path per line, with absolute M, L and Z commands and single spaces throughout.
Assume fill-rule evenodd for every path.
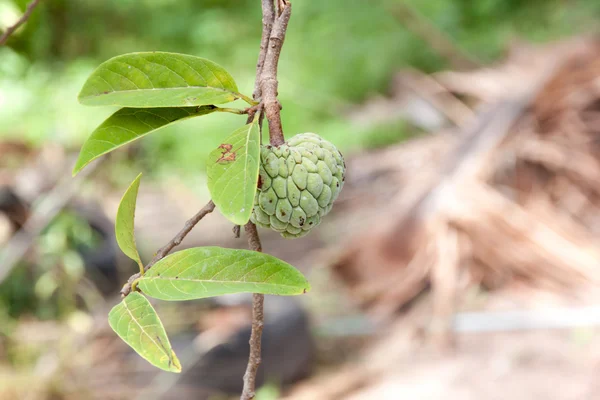
M 108 314 L 108 323 L 125 343 L 150 364 L 170 372 L 181 372 L 181 363 L 171 348 L 156 310 L 138 292 L 132 292 Z

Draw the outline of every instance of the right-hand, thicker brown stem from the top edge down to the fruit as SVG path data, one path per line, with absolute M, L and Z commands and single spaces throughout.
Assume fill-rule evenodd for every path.
M 282 3 L 284 8 L 281 15 L 273 22 L 265 64 L 260 76 L 262 103 L 267 121 L 269 121 L 269 138 L 273 146 L 280 146 L 285 142 L 283 127 L 281 126 L 281 105 L 277 100 L 277 65 L 279 64 L 279 55 L 281 54 L 285 32 L 292 13 L 292 3 L 289 1 L 282 1 Z

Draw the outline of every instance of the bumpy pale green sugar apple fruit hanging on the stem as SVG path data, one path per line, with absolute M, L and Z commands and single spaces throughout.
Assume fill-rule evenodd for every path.
M 342 154 L 319 135 L 302 133 L 278 147 L 262 146 L 260 158 L 251 221 L 285 238 L 306 235 L 344 186 Z

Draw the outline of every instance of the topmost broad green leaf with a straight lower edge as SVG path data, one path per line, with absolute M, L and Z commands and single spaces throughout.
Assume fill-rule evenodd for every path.
M 242 97 L 218 64 L 185 54 L 129 53 L 100 64 L 79 93 L 87 106 L 186 107 Z

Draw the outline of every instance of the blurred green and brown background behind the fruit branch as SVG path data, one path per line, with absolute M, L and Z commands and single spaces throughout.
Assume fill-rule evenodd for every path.
M 600 398 L 600 2 L 295 1 L 279 68 L 288 137 L 346 157 L 309 236 L 261 231 L 306 296 L 267 296 L 257 399 Z M 0 0 L 0 31 L 26 0 Z M 0 399 L 229 399 L 251 299 L 153 302 L 183 364 L 159 372 L 106 316 L 136 266 L 114 239 L 128 184 L 147 262 L 209 199 L 208 115 L 71 178 L 115 109 L 83 107 L 110 57 L 172 51 L 251 93 L 257 0 L 45 0 L 0 46 Z M 218 212 L 183 247 L 246 247 Z

